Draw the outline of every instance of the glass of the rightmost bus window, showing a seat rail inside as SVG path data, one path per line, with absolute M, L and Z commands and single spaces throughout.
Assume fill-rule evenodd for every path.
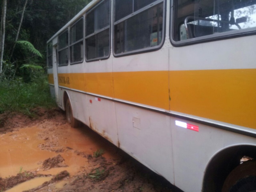
M 255 0 L 176 0 L 175 12 L 176 41 L 234 35 L 256 27 Z

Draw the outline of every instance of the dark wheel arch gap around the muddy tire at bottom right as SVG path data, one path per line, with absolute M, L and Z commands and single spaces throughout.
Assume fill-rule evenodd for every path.
M 203 180 L 203 192 L 221 191 L 228 174 L 240 164 L 243 156 L 256 159 L 256 145 L 239 144 L 217 152 L 209 161 Z

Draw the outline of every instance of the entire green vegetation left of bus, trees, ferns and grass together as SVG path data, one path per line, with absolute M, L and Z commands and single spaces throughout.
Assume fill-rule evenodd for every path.
M 55 106 L 47 82 L 46 42 L 91 0 L 6 2 L 0 4 L 0 114 L 33 116 L 32 108 Z

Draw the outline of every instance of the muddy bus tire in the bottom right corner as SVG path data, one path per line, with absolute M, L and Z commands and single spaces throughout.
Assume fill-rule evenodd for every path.
M 231 171 L 222 192 L 256 192 L 256 161 L 249 160 Z

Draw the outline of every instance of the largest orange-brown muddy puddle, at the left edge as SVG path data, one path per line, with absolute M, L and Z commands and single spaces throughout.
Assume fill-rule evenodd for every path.
M 34 170 L 38 162 L 54 156 L 54 152 L 42 151 L 37 146 L 44 140 L 37 139 L 37 127 L 28 127 L 0 135 L 0 177 L 13 176 L 20 171 Z

